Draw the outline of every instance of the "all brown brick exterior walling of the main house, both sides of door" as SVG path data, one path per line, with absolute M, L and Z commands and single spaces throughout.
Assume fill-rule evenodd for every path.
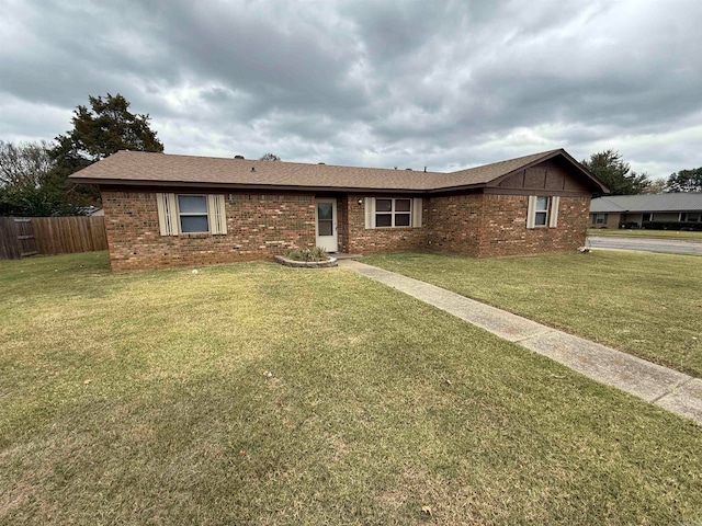
M 526 229 L 526 195 L 422 199 L 422 228 L 365 229 L 364 194 L 337 202 L 339 250 L 439 251 L 475 258 L 575 250 L 585 243 L 589 196 L 561 197 L 557 228 Z M 160 236 L 154 192 L 102 192 L 115 271 L 264 260 L 315 245 L 313 194 L 225 194 L 227 235 Z M 361 201 L 361 205 L 359 205 Z

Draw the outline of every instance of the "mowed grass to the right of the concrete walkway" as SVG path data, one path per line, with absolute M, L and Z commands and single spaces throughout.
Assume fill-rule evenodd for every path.
M 595 251 L 363 261 L 643 358 L 702 376 L 702 259 Z

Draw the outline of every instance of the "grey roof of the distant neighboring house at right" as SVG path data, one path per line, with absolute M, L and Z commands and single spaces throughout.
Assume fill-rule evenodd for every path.
M 590 213 L 702 210 L 702 193 L 611 195 L 590 203 Z

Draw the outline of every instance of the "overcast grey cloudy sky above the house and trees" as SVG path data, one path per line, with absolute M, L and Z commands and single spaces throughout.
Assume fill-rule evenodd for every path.
M 0 0 L 0 139 L 123 94 L 167 153 L 702 165 L 702 1 Z

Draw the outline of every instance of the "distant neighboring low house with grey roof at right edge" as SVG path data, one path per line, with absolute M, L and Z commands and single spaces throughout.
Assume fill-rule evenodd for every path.
M 692 228 L 702 222 L 702 193 L 608 195 L 590 203 L 591 228 L 641 228 L 648 222 Z

